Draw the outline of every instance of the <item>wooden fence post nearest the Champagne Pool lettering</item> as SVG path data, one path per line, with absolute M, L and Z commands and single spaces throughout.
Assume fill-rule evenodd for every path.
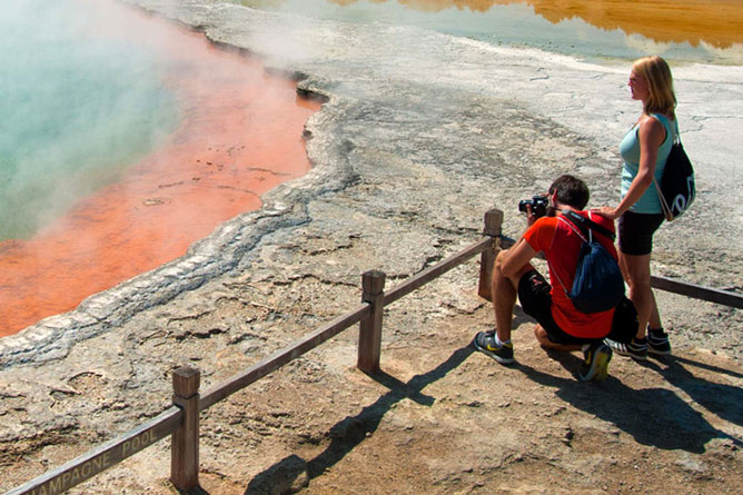
M 170 481 L 180 491 L 199 487 L 200 377 L 200 372 L 190 367 L 172 374 L 172 403 L 184 409 L 184 422 L 171 436 Z

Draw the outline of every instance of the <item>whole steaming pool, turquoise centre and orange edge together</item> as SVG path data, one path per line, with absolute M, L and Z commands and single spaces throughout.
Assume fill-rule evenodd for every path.
M 61 3 L 3 21 L 31 46 L 14 61 L 2 47 L 17 70 L 3 81 L 0 336 L 182 256 L 309 169 L 301 133 L 318 105 L 294 82 L 115 2 Z

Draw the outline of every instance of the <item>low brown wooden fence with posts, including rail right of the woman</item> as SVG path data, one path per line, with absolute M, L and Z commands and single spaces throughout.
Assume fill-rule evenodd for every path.
M 377 270 L 363 275 L 361 304 L 304 338 L 273 354 L 248 369 L 199 394 L 198 369 L 181 367 L 174 372 L 174 405 L 145 424 L 112 440 L 91 449 L 69 463 L 44 473 L 11 489 L 7 495 L 62 493 L 98 473 L 120 463 L 156 442 L 171 435 L 170 481 L 181 491 L 199 486 L 199 413 L 254 382 L 275 372 L 287 363 L 314 349 L 331 337 L 360 324 L 357 367 L 365 373 L 379 370 L 382 348 L 383 310 L 417 288 L 436 279 L 469 258 L 481 255 L 478 294 L 491 300 L 491 278 L 497 253 L 513 245 L 513 239 L 502 235 L 503 211 L 492 209 L 485 214 L 484 237 L 479 241 L 407 279 L 389 293 L 384 291 L 385 274 Z M 654 287 L 671 290 L 733 307 L 743 307 L 743 296 L 730 291 L 694 286 L 654 277 Z

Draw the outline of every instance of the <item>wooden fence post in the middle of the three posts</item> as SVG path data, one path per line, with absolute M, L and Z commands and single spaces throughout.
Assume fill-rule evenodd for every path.
M 370 270 L 361 278 L 363 301 L 371 305 L 371 314 L 360 321 L 358 336 L 358 368 L 374 374 L 379 370 L 382 354 L 382 315 L 385 309 L 385 274 Z

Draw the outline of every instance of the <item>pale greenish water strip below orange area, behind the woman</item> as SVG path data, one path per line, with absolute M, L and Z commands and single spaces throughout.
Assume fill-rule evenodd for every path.
M 634 60 L 647 53 L 657 53 L 676 62 L 743 63 L 741 44 L 717 49 L 692 47 L 690 43 L 655 42 L 640 34 L 626 34 L 621 29 L 596 28 L 579 18 L 552 23 L 524 3 L 494 4 L 486 11 L 468 7 L 423 11 L 420 7 L 412 8 L 397 0 L 358 0 L 344 2 L 346 4 L 330 0 L 232 1 L 254 9 L 294 12 L 320 19 L 416 26 L 496 46 L 537 48 L 588 61 Z M 424 1 L 408 3 L 425 4 Z

